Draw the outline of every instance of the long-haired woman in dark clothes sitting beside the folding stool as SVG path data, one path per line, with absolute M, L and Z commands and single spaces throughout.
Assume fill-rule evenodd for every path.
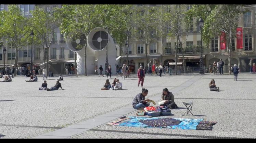
M 178 108 L 178 106 L 174 102 L 174 95 L 171 92 L 169 92 L 167 88 L 163 89 L 161 100 L 167 101 L 165 101 L 165 103 L 160 106 L 167 106 L 169 109 Z

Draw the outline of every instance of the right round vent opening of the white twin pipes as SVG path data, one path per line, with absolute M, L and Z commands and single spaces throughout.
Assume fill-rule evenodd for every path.
M 88 35 L 88 44 L 95 50 L 103 50 L 108 43 L 108 34 L 103 28 L 94 28 Z

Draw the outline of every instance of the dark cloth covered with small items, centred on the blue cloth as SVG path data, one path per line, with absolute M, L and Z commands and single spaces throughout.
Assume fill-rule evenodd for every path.
M 139 120 L 139 122 L 148 125 L 150 127 L 162 127 L 167 128 L 173 125 L 179 125 L 181 121 L 174 118 L 158 118 L 155 120 Z

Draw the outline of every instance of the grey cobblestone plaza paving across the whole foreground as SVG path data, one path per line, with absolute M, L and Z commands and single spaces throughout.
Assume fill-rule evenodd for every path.
M 136 75 L 125 80 L 113 75 L 111 83 L 114 78 L 123 83 L 123 90 L 100 90 L 106 77 L 98 75 L 64 76 L 64 90 L 57 91 L 39 91 L 41 76 L 38 82 L 25 82 L 24 76 L 1 82 L 0 138 L 256 138 L 254 74 L 239 74 L 238 81 L 233 74 L 146 75 L 146 98 L 158 102 L 165 87 L 174 94 L 179 108 L 166 117 L 216 121 L 212 131 L 106 125 L 123 115 L 136 116 L 131 102 L 141 92 Z M 56 79 L 47 79 L 48 88 Z M 220 92 L 209 91 L 212 79 Z M 183 101 L 193 102 L 194 116 L 182 116 Z

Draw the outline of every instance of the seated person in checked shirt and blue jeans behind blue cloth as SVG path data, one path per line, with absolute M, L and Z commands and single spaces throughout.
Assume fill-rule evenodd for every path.
M 132 101 L 132 107 L 134 109 L 143 110 L 145 107 L 150 105 L 149 99 L 145 100 L 145 97 L 148 95 L 149 91 L 147 89 L 142 89 L 141 93 L 137 94 Z

